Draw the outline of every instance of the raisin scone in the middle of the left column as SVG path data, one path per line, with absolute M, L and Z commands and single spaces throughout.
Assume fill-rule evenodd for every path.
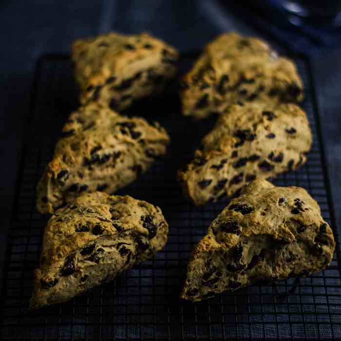
M 95 103 L 72 113 L 38 184 L 37 208 L 53 213 L 84 192 L 113 193 L 166 153 L 169 136 L 158 123 L 121 116 Z

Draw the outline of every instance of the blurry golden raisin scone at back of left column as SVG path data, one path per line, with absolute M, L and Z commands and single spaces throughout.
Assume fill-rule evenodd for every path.
M 108 33 L 72 44 L 80 102 L 98 101 L 114 110 L 160 93 L 177 73 L 177 50 L 146 33 Z

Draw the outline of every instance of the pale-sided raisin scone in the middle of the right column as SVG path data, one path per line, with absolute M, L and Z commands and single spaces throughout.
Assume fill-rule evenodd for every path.
M 235 104 L 218 117 L 178 179 L 190 201 L 205 205 L 255 178 L 295 170 L 305 163 L 311 143 L 307 117 L 297 105 Z

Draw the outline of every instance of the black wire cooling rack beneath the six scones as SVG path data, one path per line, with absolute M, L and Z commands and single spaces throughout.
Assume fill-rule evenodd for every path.
M 187 69 L 192 58 L 184 57 Z M 314 142 L 302 169 L 281 175 L 276 185 L 301 186 L 319 202 L 322 216 L 331 221 L 326 189 L 321 136 L 312 79 L 303 59 L 296 63 L 305 84 L 303 108 Z M 162 208 L 170 225 L 169 241 L 154 260 L 136 265 L 115 281 L 96 287 L 69 303 L 36 313 L 27 311 L 32 293 L 32 272 L 38 266 L 43 228 L 48 217 L 35 208 L 39 177 L 70 111 L 77 92 L 67 57 L 40 59 L 25 140 L 25 153 L 15 213 L 8 237 L 0 306 L 3 339 L 321 339 L 341 337 L 341 278 L 335 252 L 328 269 L 302 278 L 288 293 L 293 279 L 274 285 L 253 285 L 223 293 L 202 303 L 178 299 L 186 277 L 190 251 L 227 200 L 195 208 L 181 195 L 176 170 L 191 157 L 214 118 L 193 123 L 179 114 L 172 87 L 158 99 L 147 100 L 131 111 L 157 119 L 169 131 L 168 156 L 141 179 L 120 190 Z M 152 112 L 151 112 L 152 110 Z M 128 112 L 129 114 L 129 112 Z M 332 224 L 333 226 L 333 224 Z M 338 239 L 338 231 L 334 228 Z M 339 243 L 337 242 L 339 250 Z

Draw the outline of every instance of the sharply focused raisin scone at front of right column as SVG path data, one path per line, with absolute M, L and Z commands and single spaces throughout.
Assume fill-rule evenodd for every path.
M 309 276 L 330 264 L 334 248 L 333 232 L 305 189 L 254 180 L 195 246 L 181 297 L 201 301 L 258 282 Z

